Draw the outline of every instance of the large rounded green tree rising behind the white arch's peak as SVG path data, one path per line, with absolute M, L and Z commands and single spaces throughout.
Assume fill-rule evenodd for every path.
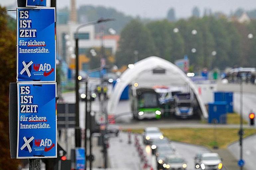
M 139 52 L 139 60 L 157 55 L 153 38 L 140 20 L 132 20 L 121 32 L 116 62 L 119 66 L 134 63 L 134 50 Z

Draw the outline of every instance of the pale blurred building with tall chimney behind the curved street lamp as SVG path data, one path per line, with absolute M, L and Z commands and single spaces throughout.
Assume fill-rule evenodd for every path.
M 70 69 L 74 68 L 74 48 L 75 48 L 75 31 L 78 26 L 77 24 L 77 12 L 76 12 L 76 2 L 75 0 L 70 0 L 71 2 L 71 11 L 69 15 L 69 21 L 66 22 L 68 18 L 66 12 L 62 12 L 59 15 L 59 21 L 57 20 L 57 46 L 58 53 L 62 57 L 62 60 L 66 61 Z M 58 19 L 58 16 L 57 16 Z M 87 58 L 86 54 L 91 48 L 100 48 L 101 39 L 100 35 L 95 33 L 94 25 L 89 25 L 84 28 L 81 28 L 78 33 L 79 38 L 79 69 L 87 70 L 90 69 L 88 62 L 90 58 Z M 119 36 L 118 35 L 105 35 L 103 38 L 104 48 L 111 51 L 112 54 L 115 54 Z M 100 55 L 100 54 L 97 54 Z

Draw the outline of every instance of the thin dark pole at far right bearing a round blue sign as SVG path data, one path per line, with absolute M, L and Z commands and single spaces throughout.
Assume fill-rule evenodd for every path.
M 240 77 L 240 160 L 243 159 L 243 81 Z M 240 169 L 243 170 L 243 166 L 240 166 Z

